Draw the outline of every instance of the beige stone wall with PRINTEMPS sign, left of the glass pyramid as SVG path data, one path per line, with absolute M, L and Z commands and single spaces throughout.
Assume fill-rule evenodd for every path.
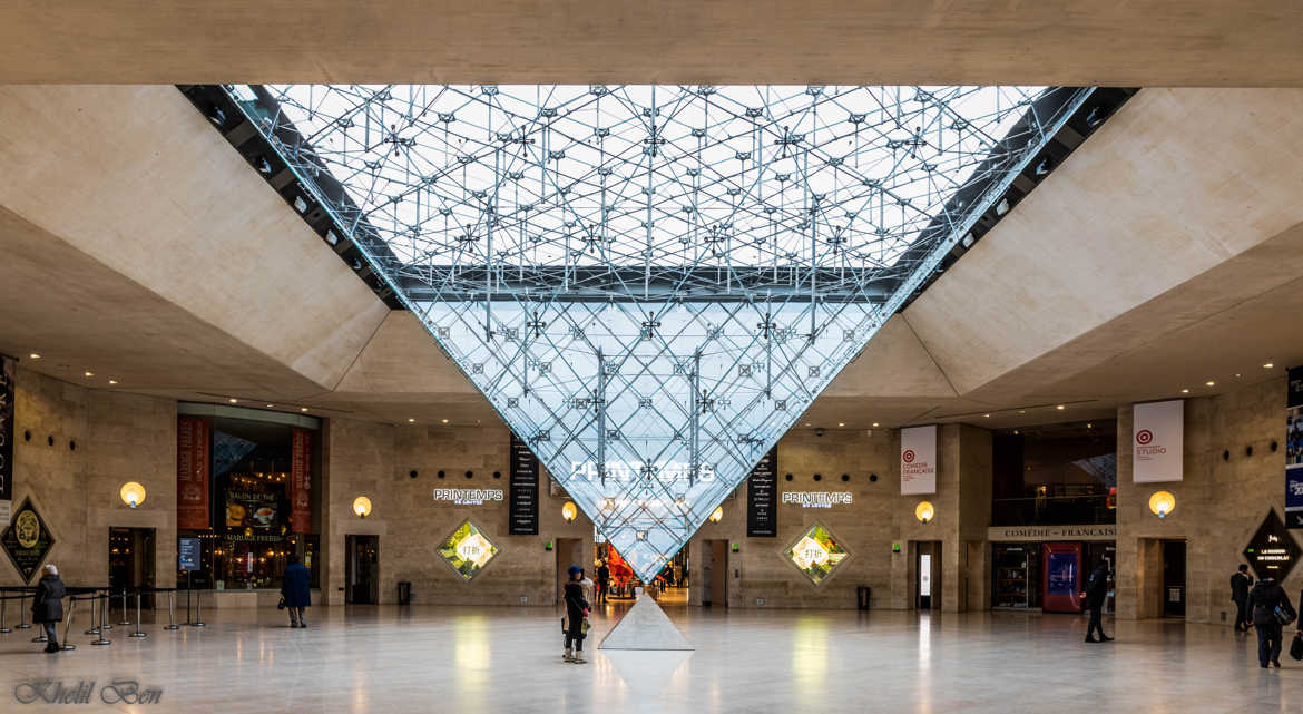
M 563 491 L 552 495 L 546 472 L 541 476 L 539 534 L 508 536 L 509 433 L 502 426 L 444 427 L 378 425 L 331 420 L 326 438 L 326 500 L 323 547 L 327 571 L 324 595 L 341 603 L 344 593 L 344 541 L 348 534 L 378 534 L 380 602 L 397 598 L 397 582 L 409 581 L 417 605 L 528 605 L 551 606 L 556 594 L 558 551 L 546 543 L 560 538 L 581 541 L 580 565 L 592 572 L 593 525 L 580 516 L 562 519 Z M 417 477 L 412 478 L 410 472 Z M 446 477 L 439 479 L 437 473 Z M 465 472 L 473 472 L 465 478 Z M 494 478 L 499 472 L 502 478 Z M 434 500 L 434 489 L 500 489 L 503 500 L 483 506 L 453 506 Z M 374 511 L 367 519 L 352 515 L 357 495 L 367 495 Z M 463 520 L 470 519 L 499 547 L 494 560 L 472 581 L 465 581 L 438 554 L 439 543 Z M 567 554 L 564 565 L 571 564 Z

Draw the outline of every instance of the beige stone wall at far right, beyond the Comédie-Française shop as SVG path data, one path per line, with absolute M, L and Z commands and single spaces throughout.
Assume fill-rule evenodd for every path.
M 1162 615 L 1161 539 L 1186 541 L 1186 619 L 1231 624 L 1230 575 L 1267 513 L 1285 515 L 1285 378 L 1186 401 L 1184 474 L 1177 483 L 1132 483 L 1131 407 L 1118 409 L 1118 616 Z M 1270 451 L 1272 440 L 1280 448 Z M 1253 447 L 1253 455 L 1246 447 Z M 1229 459 L 1222 452 L 1230 452 Z M 1166 519 L 1149 494 L 1171 491 Z M 1303 532 L 1293 532 L 1295 538 Z M 1285 582 L 1291 599 L 1303 568 Z M 1227 618 L 1224 620 L 1224 614 Z

